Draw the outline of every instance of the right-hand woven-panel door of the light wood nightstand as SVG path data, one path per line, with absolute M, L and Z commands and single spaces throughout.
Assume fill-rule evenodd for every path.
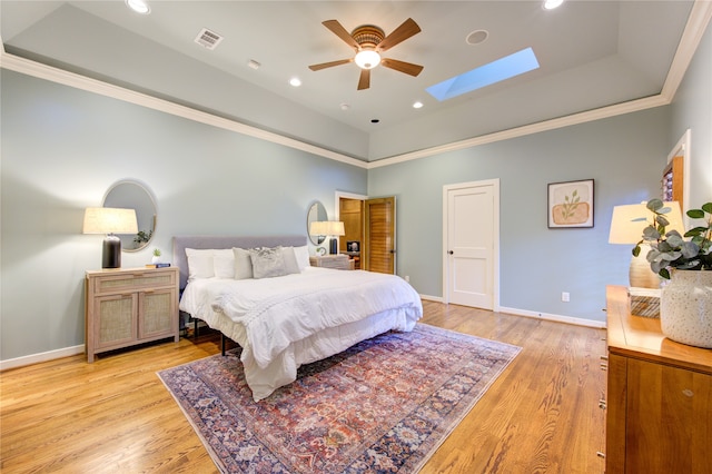
M 139 294 L 139 339 L 170 336 L 178 324 L 175 289 Z

